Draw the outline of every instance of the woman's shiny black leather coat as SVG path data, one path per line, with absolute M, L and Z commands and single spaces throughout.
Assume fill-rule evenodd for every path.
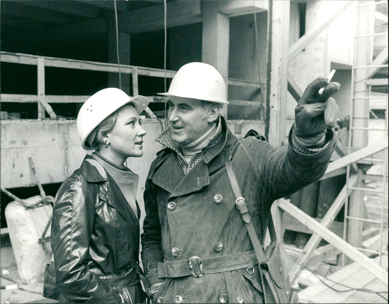
M 106 277 L 123 276 L 131 268 L 137 271 L 138 204 L 137 209 L 138 217 L 92 156 L 63 182 L 51 232 L 59 303 L 122 303 L 118 292 L 123 286 Z

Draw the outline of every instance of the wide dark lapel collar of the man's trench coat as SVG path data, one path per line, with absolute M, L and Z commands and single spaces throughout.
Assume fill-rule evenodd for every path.
M 203 160 L 198 162 L 187 175 L 182 172 L 177 154 L 170 150 L 170 153 L 159 161 L 160 166 L 151 177 L 153 183 L 171 193 L 170 197 L 189 194 L 209 185 L 210 174 L 224 166 L 223 155 L 219 156 L 219 154 L 237 140 L 223 117 L 221 124 L 223 134 L 221 140 L 208 150 Z

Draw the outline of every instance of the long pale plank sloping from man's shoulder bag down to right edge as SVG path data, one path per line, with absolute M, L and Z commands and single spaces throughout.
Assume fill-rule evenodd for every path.
M 353 246 L 338 237 L 335 233 L 329 231 L 327 228 L 315 221 L 309 215 L 305 214 L 299 208 L 290 204 L 286 199 L 279 199 L 277 202 L 278 206 L 281 209 L 301 221 L 304 225 L 306 225 L 315 233 L 317 233 L 321 238 L 325 239 L 328 243 L 334 245 L 334 247 L 342 251 L 352 260 L 357 262 L 360 266 L 367 269 L 380 281 L 388 285 L 388 271 L 372 262 L 369 258 L 367 258 L 365 255 L 356 250 Z

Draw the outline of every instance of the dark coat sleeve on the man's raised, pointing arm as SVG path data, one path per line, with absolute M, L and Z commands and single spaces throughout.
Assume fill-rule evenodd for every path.
M 292 130 L 289 133 L 291 143 Z M 305 154 L 289 144 L 273 146 L 253 137 L 242 140 L 241 146 L 256 169 L 259 187 L 271 200 L 294 193 L 323 176 L 336 144 L 333 130 L 328 129 L 324 148 Z

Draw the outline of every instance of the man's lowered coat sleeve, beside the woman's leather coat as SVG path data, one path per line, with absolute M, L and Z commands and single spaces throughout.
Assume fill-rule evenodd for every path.
M 153 171 L 153 167 L 154 165 L 152 164 L 150 172 Z M 161 245 L 161 225 L 154 187 L 149 173 L 143 193 L 146 215 L 143 221 L 143 233 L 141 235 L 142 263 L 149 286 L 163 281 L 158 279 L 157 274 L 158 263 L 163 262 L 163 252 Z

